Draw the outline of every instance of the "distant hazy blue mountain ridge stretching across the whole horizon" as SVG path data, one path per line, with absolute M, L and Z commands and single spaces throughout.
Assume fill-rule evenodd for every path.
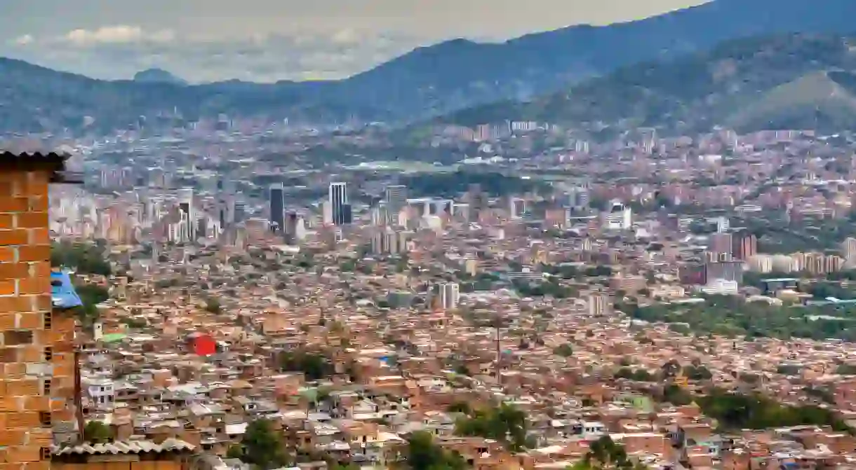
M 850 21 L 853 15 L 853 0 L 823 0 L 823 6 L 818 0 L 714 0 L 642 21 L 572 26 L 502 44 L 457 39 L 413 50 L 348 79 L 271 85 L 238 81 L 185 85 L 164 71 L 146 71 L 134 80 L 104 81 L 0 59 L 0 131 L 77 129 L 84 116 L 94 118 L 94 128 L 104 131 L 134 125 L 140 116 L 196 120 L 220 113 L 270 119 L 412 121 L 481 103 L 549 96 L 637 62 L 657 61 L 659 67 L 669 67 L 666 62 L 675 57 L 709 50 L 728 39 L 786 32 L 846 33 L 856 29 Z M 813 60 L 811 54 L 803 58 Z M 661 73 L 669 74 L 668 69 Z M 615 85 L 615 77 L 604 80 Z M 595 83 L 591 80 L 586 86 Z M 670 83 L 684 86 L 681 80 Z M 555 111 L 557 117 L 576 121 L 576 113 L 585 112 L 568 111 L 556 100 L 536 102 L 553 104 L 538 113 L 532 109 L 526 113 L 546 118 Z M 174 109 L 180 118 L 170 115 Z M 21 114 L 21 110 L 35 112 Z M 483 111 L 490 115 L 484 109 L 471 115 Z M 621 109 L 616 113 L 621 114 Z M 743 116 L 740 119 L 751 117 Z

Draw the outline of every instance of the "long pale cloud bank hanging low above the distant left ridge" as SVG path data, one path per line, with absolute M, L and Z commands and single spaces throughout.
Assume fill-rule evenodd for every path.
M 216 38 L 125 25 L 31 37 L 26 47 L 10 44 L 9 55 L 99 79 L 128 79 L 146 68 L 163 68 L 195 83 L 275 82 L 344 78 L 427 42 L 347 28 Z

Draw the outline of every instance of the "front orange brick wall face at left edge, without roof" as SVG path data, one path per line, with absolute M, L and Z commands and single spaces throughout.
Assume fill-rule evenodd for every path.
M 50 177 L 0 166 L 0 470 L 50 468 Z

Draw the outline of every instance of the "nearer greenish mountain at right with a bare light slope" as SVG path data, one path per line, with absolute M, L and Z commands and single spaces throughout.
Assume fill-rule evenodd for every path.
M 687 134 L 727 126 L 856 126 L 856 36 L 777 34 L 735 39 L 707 52 L 641 62 L 530 102 L 491 103 L 437 119 L 475 126 L 549 121 L 594 135 L 654 127 Z

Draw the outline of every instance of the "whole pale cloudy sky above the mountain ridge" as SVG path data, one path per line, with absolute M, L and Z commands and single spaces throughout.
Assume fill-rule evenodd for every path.
M 704 0 L 0 0 L 0 56 L 99 79 L 338 79 L 451 38 L 502 41 Z

